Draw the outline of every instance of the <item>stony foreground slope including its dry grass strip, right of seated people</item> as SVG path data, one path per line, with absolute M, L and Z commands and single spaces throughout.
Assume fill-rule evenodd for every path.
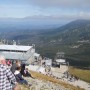
M 84 90 L 84 88 L 79 86 L 73 86 L 69 83 L 43 75 L 41 73 L 34 71 L 30 71 L 30 73 L 34 79 L 30 77 L 24 78 L 29 82 L 29 84 L 31 84 L 31 86 L 29 88 L 25 85 L 21 85 L 22 90 Z

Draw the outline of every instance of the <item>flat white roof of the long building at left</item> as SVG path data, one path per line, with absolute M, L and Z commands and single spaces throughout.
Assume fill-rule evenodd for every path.
M 0 50 L 16 50 L 16 51 L 28 51 L 33 46 L 21 46 L 21 45 L 0 45 Z

